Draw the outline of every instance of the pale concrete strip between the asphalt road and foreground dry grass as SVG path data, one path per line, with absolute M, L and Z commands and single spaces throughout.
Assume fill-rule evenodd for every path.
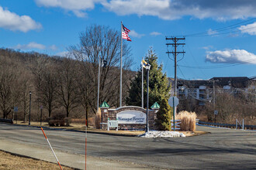
M 53 153 L 50 151 L 50 148 L 38 148 L 33 145 L 22 145 L 19 143 L 14 143 L 10 141 L 0 140 L 0 150 L 7 151 L 16 155 L 22 155 L 29 158 L 36 158 L 47 162 L 54 162 L 56 160 L 54 158 Z M 73 155 L 70 153 L 65 153 L 61 151 L 55 151 L 57 158 L 61 165 L 66 165 L 76 169 L 85 169 L 85 155 Z M 146 167 L 143 165 L 135 165 L 130 162 L 117 162 L 104 158 L 95 158 L 92 156 L 87 156 L 87 169 L 104 169 L 104 170 L 112 170 L 112 169 L 154 169 L 150 167 Z

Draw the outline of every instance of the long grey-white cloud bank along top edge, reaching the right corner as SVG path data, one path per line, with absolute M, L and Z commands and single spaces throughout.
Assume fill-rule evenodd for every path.
M 254 0 L 110 0 L 102 5 L 117 15 L 151 15 L 168 20 L 186 15 L 216 20 L 256 16 Z

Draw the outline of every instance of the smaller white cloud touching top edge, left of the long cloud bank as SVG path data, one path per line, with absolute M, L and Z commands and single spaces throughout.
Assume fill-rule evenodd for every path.
M 37 5 L 54 8 L 64 8 L 74 12 L 78 17 L 85 17 L 86 10 L 95 8 L 95 4 L 105 0 L 35 0 Z

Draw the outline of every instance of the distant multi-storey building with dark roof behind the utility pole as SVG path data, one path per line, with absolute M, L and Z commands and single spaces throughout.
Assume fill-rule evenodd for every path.
M 170 79 L 174 85 L 174 80 Z M 216 92 L 240 93 L 252 90 L 255 93 L 255 77 L 247 76 L 234 77 L 213 77 L 209 80 L 181 80 L 177 81 L 177 97 L 180 100 L 195 99 L 199 105 L 211 102 Z M 174 87 L 172 87 L 172 94 Z

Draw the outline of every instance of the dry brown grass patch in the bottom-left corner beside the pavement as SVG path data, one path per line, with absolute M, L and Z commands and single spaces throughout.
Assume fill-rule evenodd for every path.
M 62 166 L 65 170 L 71 170 L 74 168 L 68 168 Z M 43 162 L 33 158 L 23 158 L 16 155 L 11 155 L 5 151 L 0 151 L 0 170 L 12 170 L 12 169 L 43 169 L 43 170 L 59 170 L 60 167 L 57 164 L 50 162 Z

